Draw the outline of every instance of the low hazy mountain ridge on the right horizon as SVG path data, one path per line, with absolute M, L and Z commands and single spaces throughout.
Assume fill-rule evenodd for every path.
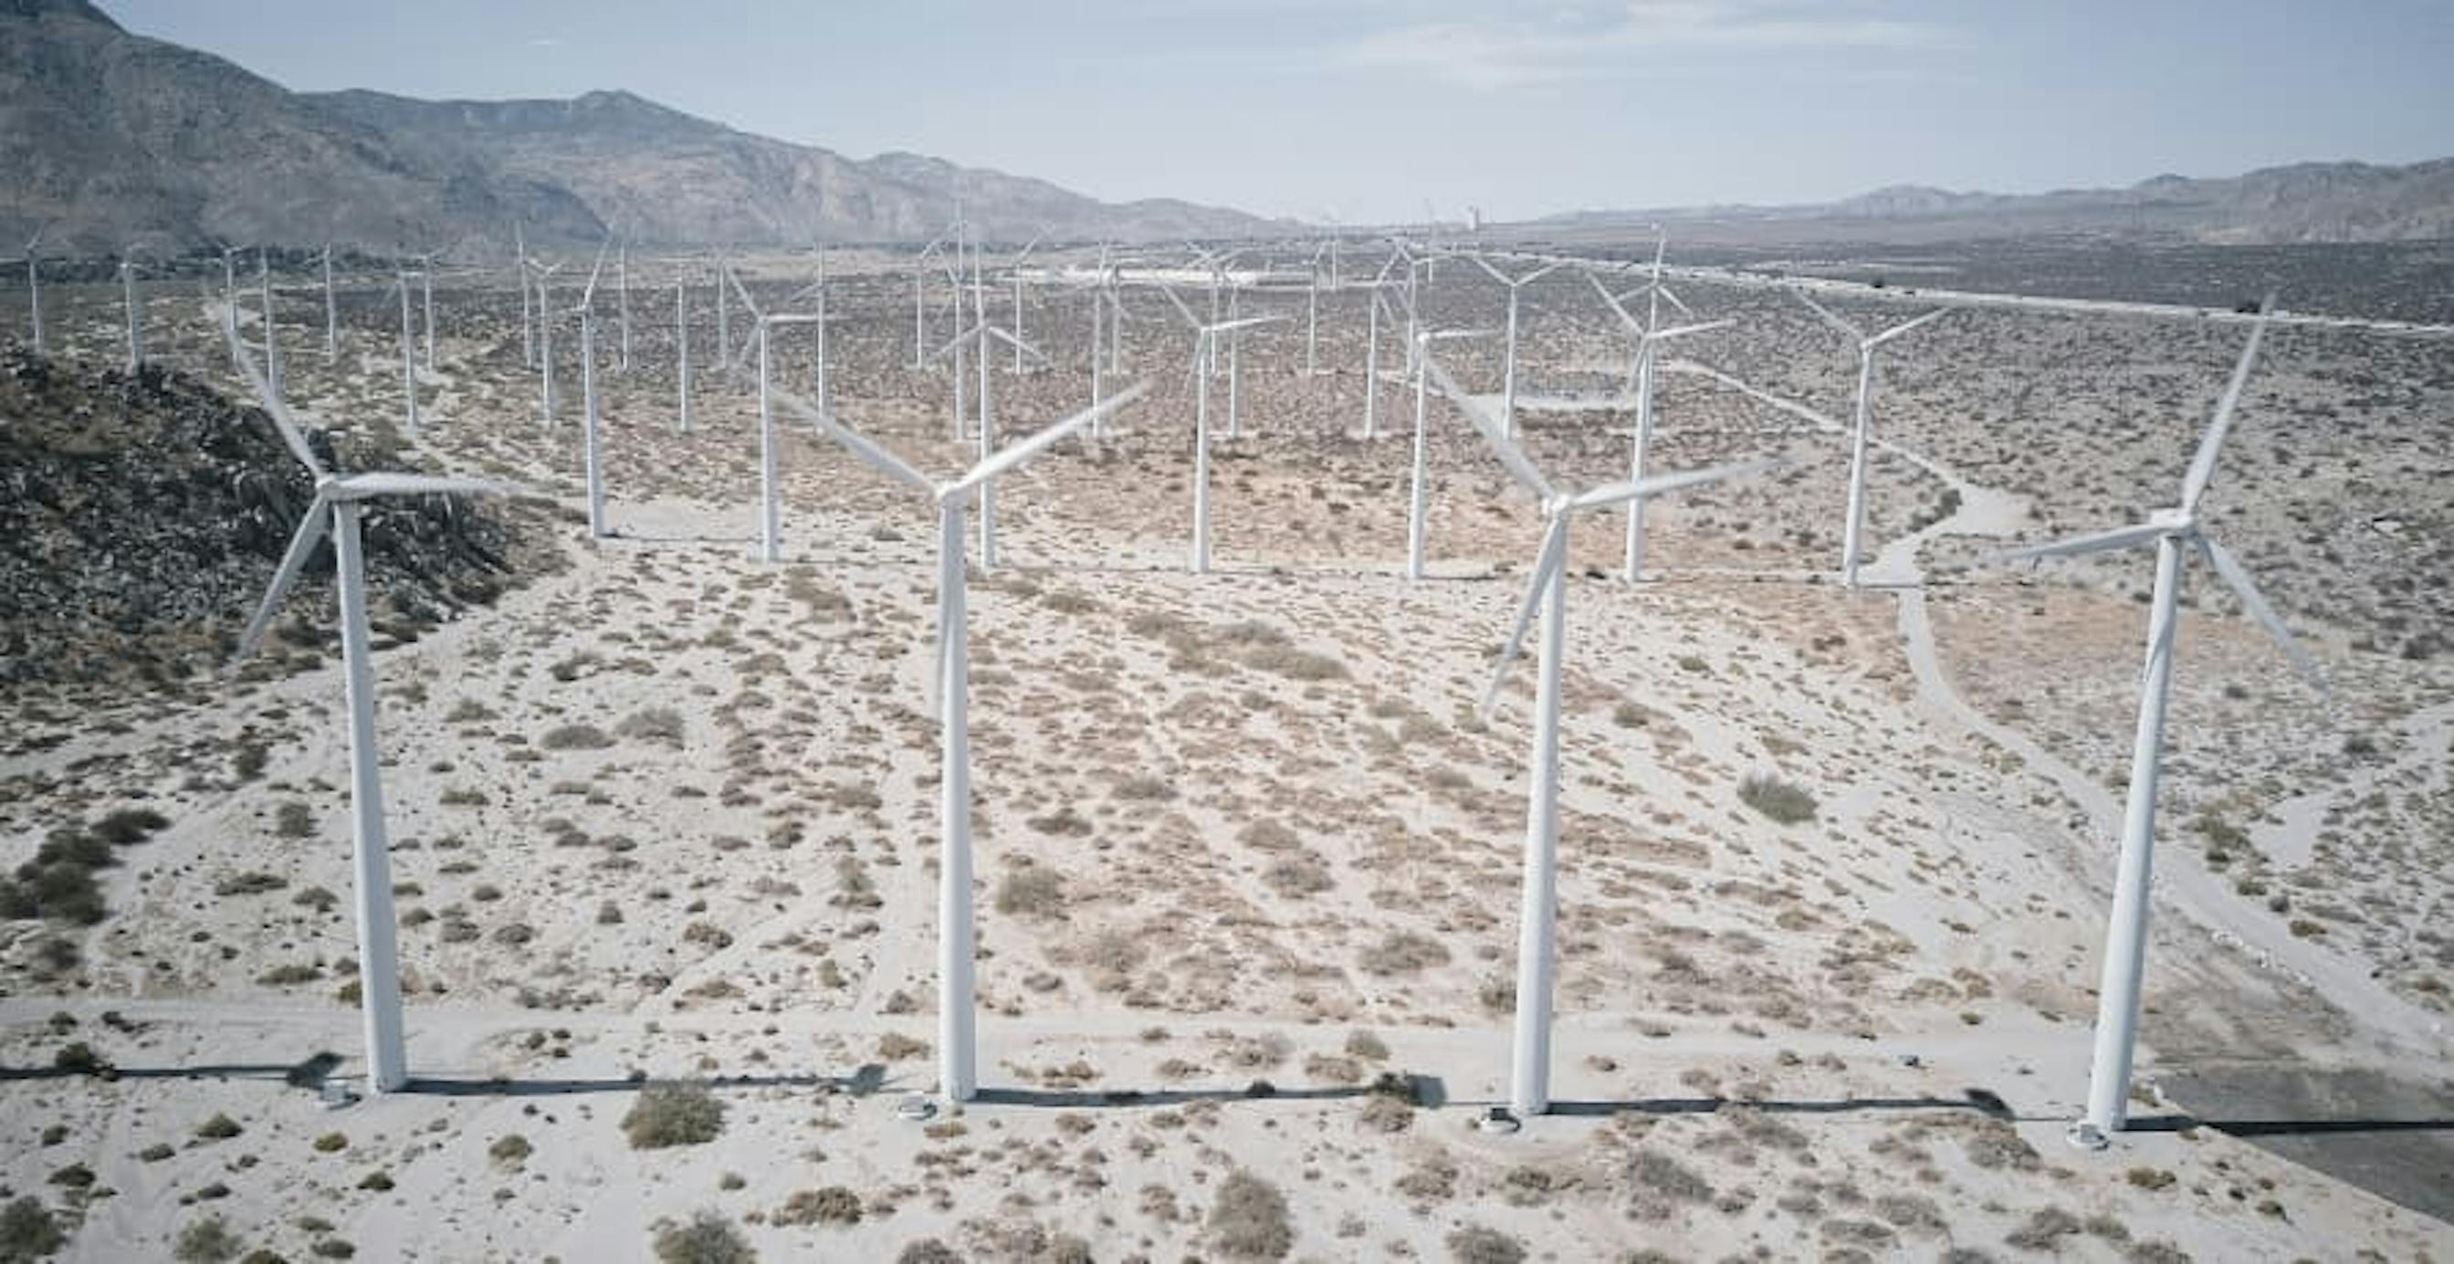
M 2228 179 L 2160 174 L 2128 189 L 2049 194 L 1956 194 L 1894 184 L 1804 206 L 1693 206 L 1659 211 L 1573 211 L 1539 223 L 1951 223 L 1968 233 L 2152 231 L 2206 243 L 2437 241 L 2454 238 L 2454 160 L 2380 167 L 2297 162 Z

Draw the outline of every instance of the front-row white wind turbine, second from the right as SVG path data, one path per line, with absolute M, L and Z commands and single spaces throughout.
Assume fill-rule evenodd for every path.
M 1728 464 L 1605 484 L 1575 493 L 1561 491 L 1541 476 L 1524 449 L 1517 447 L 1517 439 L 1509 439 L 1499 422 L 1485 415 L 1482 405 L 1465 395 L 1431 356 L 1423 358 L 1423 371 L 1475 422 L 1475 430 L 1482 432 L 1482 442 L 1492 447 L 1499 464 L 1541 501 L 1546 518 L 1541 552 L 1534 555 L 1526 596 L 1517 609 L 1517 626 L 1509 631 L 1509 641 L 1499 650 L 1499 665 L 1492 670 L 1492 685 L 1482 695 L 1482 712 L 1490 714 L 1499 699 L 1499 685 L 1507 680 L 1509 665 L 1524 645 L 1526 628 L 1534 623 L 1534 614 L 1541 611 L 1541 658 L 1534 685 L 1534 776 L 1526 790 L 1524 891 L 1517 928 L 1517 1033 L 1509 1063 L 1509 1112 L 1514 1122 L 1524 1122 L 1551 1107 L 1551 957 L 1558 915 L 1558 712 L 1561 670 L 1568 650 L 1568 528 L 1583 511 L 1607 508 L 1637 496 L 1661 496 L 1666 491 L 1718 484 L 1772 469 L 1779 461 Z M 1494 1122 L 1507 1122 L 1507 1117 L 1494 1117 Z

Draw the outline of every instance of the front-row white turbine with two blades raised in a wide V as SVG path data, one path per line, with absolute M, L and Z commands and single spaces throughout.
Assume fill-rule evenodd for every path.
M 778 398 L 825 430 L 854 457 L 879 474 L 906 484 L 937 503 L 937 653 L 933 655 L 933 687 L 937 695 L 937 1095 L 947 1107 L 969 1102 L 979 1092 L 979 1031 L 972 925 L 972 734 L 969 734 L 969 619 L 964 601 L 962 518 L 972 496 L 999 474 L 1038 457 L 1058 439 L 1085 425 L 1117 412 L 1141 398 L 1144 383 L 1134 383 L 1099 407 L 1021 439 L 1004 452 L 979 461 L 969 474 L 940 484 L 920 474 L 908 461 L 876 444 L 866 434 L 839 425 L 805 400 L 788 393 Z

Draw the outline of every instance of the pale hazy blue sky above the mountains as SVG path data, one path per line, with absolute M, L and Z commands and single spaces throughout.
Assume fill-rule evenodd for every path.
M 2454 155 L 2449 0 L 103 0 L 292 88 L 631 88 L 849 157 L 1360 221 Z

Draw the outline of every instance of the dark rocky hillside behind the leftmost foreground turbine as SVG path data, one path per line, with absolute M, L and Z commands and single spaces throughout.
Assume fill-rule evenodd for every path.
M 321 430 L 309 442 L 334 464 Z M 351 449 L 339 466 L 371 461 Z M 7 351 L 0 690 L 216 670 L 312 496 L 272 422 L 187 376 Z M 378 501 L 363 523 L 378 643 L 491 601 L 523 552 L 501 511 L 454 498 Z M 299 626 L 275 626 L 270 658 L 331 636 L 331 565 L 326 542 L 290 599 Z

